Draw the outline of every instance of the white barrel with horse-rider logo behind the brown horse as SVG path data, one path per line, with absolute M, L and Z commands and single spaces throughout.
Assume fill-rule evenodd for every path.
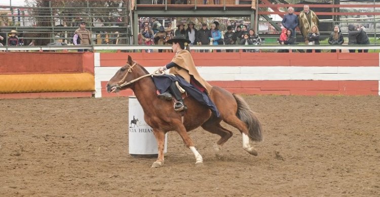
M 144 121 L 144 111 L 136 96 L 129 96 L 128 140 L 129 154 L 157 155 L 158 145 L 153 134 L 153 128 Z M 168 136 L 165 134 L 164 153 L 167 151 Z

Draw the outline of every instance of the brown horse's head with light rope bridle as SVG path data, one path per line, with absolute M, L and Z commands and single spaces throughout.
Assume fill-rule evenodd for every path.
M 132 84 L 129 82 L 138 77 L 136 72 L 133 71 L 136 67 L 138 67 L 137 63 L 132 60 L 131 56 L 128 56 L 127 64 L 120 68 L 108 81 L 107 92 L 118 92 L 121 89 L 129 88 Z

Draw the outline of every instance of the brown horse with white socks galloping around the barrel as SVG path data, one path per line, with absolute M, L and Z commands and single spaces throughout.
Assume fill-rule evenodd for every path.
M 261 124 L 241 96 L 214 86 L 210 92 L 210 98 L 219 110 L 220 117 L 214 116 L 208 108 L 192 97 L 186 97 L 184 102 L 188 109 L 182 120 L 181 114 L 174 111 L 172 101 L 157 98 L 157 88 L 153 79 L 143 76 L 149 76 L 148 72 L 128 56 L 126 66 L 116 72 L 115 76 L 108 81 L 106 88 L 108 92 L 126 88 L 134 91 L 144 111 L 144 119 L 153 128 L 158 144 L 158 158 L 151 167 L 164 165 L 164 139 L 165 133 L 168 131 L 177 131 L 185 145 L 194 153 L 196 165 L 202 164 L 202 156 L 195 149 L 193 140 L 187 135 L 187 131 L 199 126 L 220 135 L 220 139 L 214 145 L 215 154 L 220 157 L 221 146 L 232 137 L 232 132 L 220 125 L 222 120 L 239 129 L 243 136 L 243 149 L 249 154 L 257 156 L 249 139 L 262 140 Z

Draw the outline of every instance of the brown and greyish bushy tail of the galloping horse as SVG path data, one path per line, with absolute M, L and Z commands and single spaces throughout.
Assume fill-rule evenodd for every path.
M 240 95 L 233 94 L 238 103 L 236 116 L 248 126 L 248 136 L 253 141 L 262 141 L 261 123 L 256 113 L 249 109 L 247 102 Z

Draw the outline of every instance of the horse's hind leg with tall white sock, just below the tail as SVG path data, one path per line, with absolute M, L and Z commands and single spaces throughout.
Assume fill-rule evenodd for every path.
M 223 119 L 227 124 L 237 128 L 242 133 L 243 149 L 251 155 L 257 156 L 257 151 L 251 147 L 248 137 L 247 125 L 236 116 L 229 116 Z

